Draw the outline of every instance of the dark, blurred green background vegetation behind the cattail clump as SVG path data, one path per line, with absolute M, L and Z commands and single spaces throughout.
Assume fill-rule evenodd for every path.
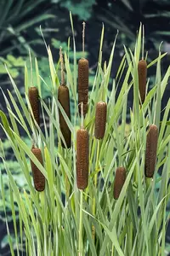
M 111 51 L 111 44 L 116 36 L 117 29 L 119 36 L 116 43 L 116 57 L 112 76 L 120 64 L 123 55 L 123 44 L 133 49 L 136 32 L 140 21 L 145 29 L 145 52 L 149 51 L 150 59 L 157 56 L 157 50 L 161 41 L 161 51 L 167 51 L 161 72 L 163 73 L 170 61 L 170 1 L 168 0 L 1 0 L 0 1 L 0 86 L 3 90 L 12 90 L 4 64 L 24 93 L 24 65 L 25 61 L 29 67 L 28 49 L 31 55 L 36 56 L 40 73 L 43 79 L 49 79 L 48 55 L 40 34 L 40 25 L 47 44 L 50 45 L 54 55 L 54 62 L 59 60 L 59 46 L 67 49 L 67 40 L 71 37 L 71 26 L 69 11 L 74 20 L 77 51 L 82 51 L 82 21 L 86 21 L 85 49 L 90 63 L 90 83 L 93 81 L 94 69 L 97 65 L 99 54 L 99 37 L 102 22 L 105 24 L 104 59 L 108 61 Z M 71 45 L 72 49 L 72 45 Z M 152 70 L 150 70 L 152 78 Z M 150 86 L 151 86 L 150 79 Z M 36 81 L 34 81 L 36 83 Z M 169 86 L 167 86 L 169 88 Z M 163 106 L 166 106 L 169 97 L 163 99 Z M 49 91 L 45 88 L 42 96 L 45 98 Z M 3 95 L 0 93 L 0 108 L 4 109 Z M 131 106 L 131 98 L 129 98 Z M 24 134 L 23 134 L 24 136 Z M 0 137 L 3 140 L 8 153 L 8 162 L 12 166 L 14 177 L 19 188 L 23 188 L 20 173 L 20 166 L 14 161 L 14 155 L 8 147 L 3 131 L 0 130 Z M 3 164 L 0 162 L 1 173 Z M 3 173 L 5 177 L 5 173 Z M 6 180 L 8 187 L 8 180 Z M 8 201 L 8 221 L 11 221 L 10 228 L 13 230 L 11 210 Z M 16 209 L 17 210 L 17 209 Z M 168 210 L 168 209 L 167 209 Z M 167 234 L 167 242 L 170 242 L 170 234 Z M 167 244 L 167 251 L 170 247 Z M 8 239 L 6 236 L 5 219 L 3 215 L 3 203 L 0 195 L 0 255 L 10 255 Z

